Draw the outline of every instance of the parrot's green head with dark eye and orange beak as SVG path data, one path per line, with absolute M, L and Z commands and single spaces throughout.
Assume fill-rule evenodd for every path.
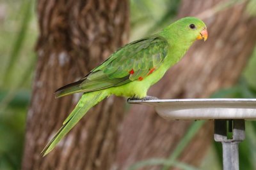
M 204 39 L 205 41 L 208 37 L 206 25 L 202 20 L 195 17 L 185 17 L 177 20 L 170 25 L 170 29 L 172 29 L 172 32 L 177 32 L 178 39 L 191 43 L 196 39 Z

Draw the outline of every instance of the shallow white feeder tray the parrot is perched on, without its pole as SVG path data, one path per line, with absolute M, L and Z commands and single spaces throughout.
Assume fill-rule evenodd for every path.
M 154 99 L 129 100 L 153 106 L 171 120 L 256 119 L 256 99 Z

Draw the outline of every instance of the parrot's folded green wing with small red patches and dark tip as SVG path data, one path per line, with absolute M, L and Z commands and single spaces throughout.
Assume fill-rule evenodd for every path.
M 123 46 L 81 80 L 57 90 L 57 97 L 74 92 L 92 92 L 143 80 L 163 63 L 168 42 L 150 36 Z

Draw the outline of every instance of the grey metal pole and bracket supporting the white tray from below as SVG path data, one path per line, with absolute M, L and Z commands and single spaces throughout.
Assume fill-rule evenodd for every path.
M 244 120 L 214 120 L 214 140 L 222 144 L 223 170 L 239 170 L 238 144 L 245 138 L 244 131 Z

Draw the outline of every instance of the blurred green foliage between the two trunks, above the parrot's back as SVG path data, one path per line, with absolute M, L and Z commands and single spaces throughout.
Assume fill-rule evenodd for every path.
M 131 40 L 163 29 L 173 22 L 180 0 L 131 0 Z

